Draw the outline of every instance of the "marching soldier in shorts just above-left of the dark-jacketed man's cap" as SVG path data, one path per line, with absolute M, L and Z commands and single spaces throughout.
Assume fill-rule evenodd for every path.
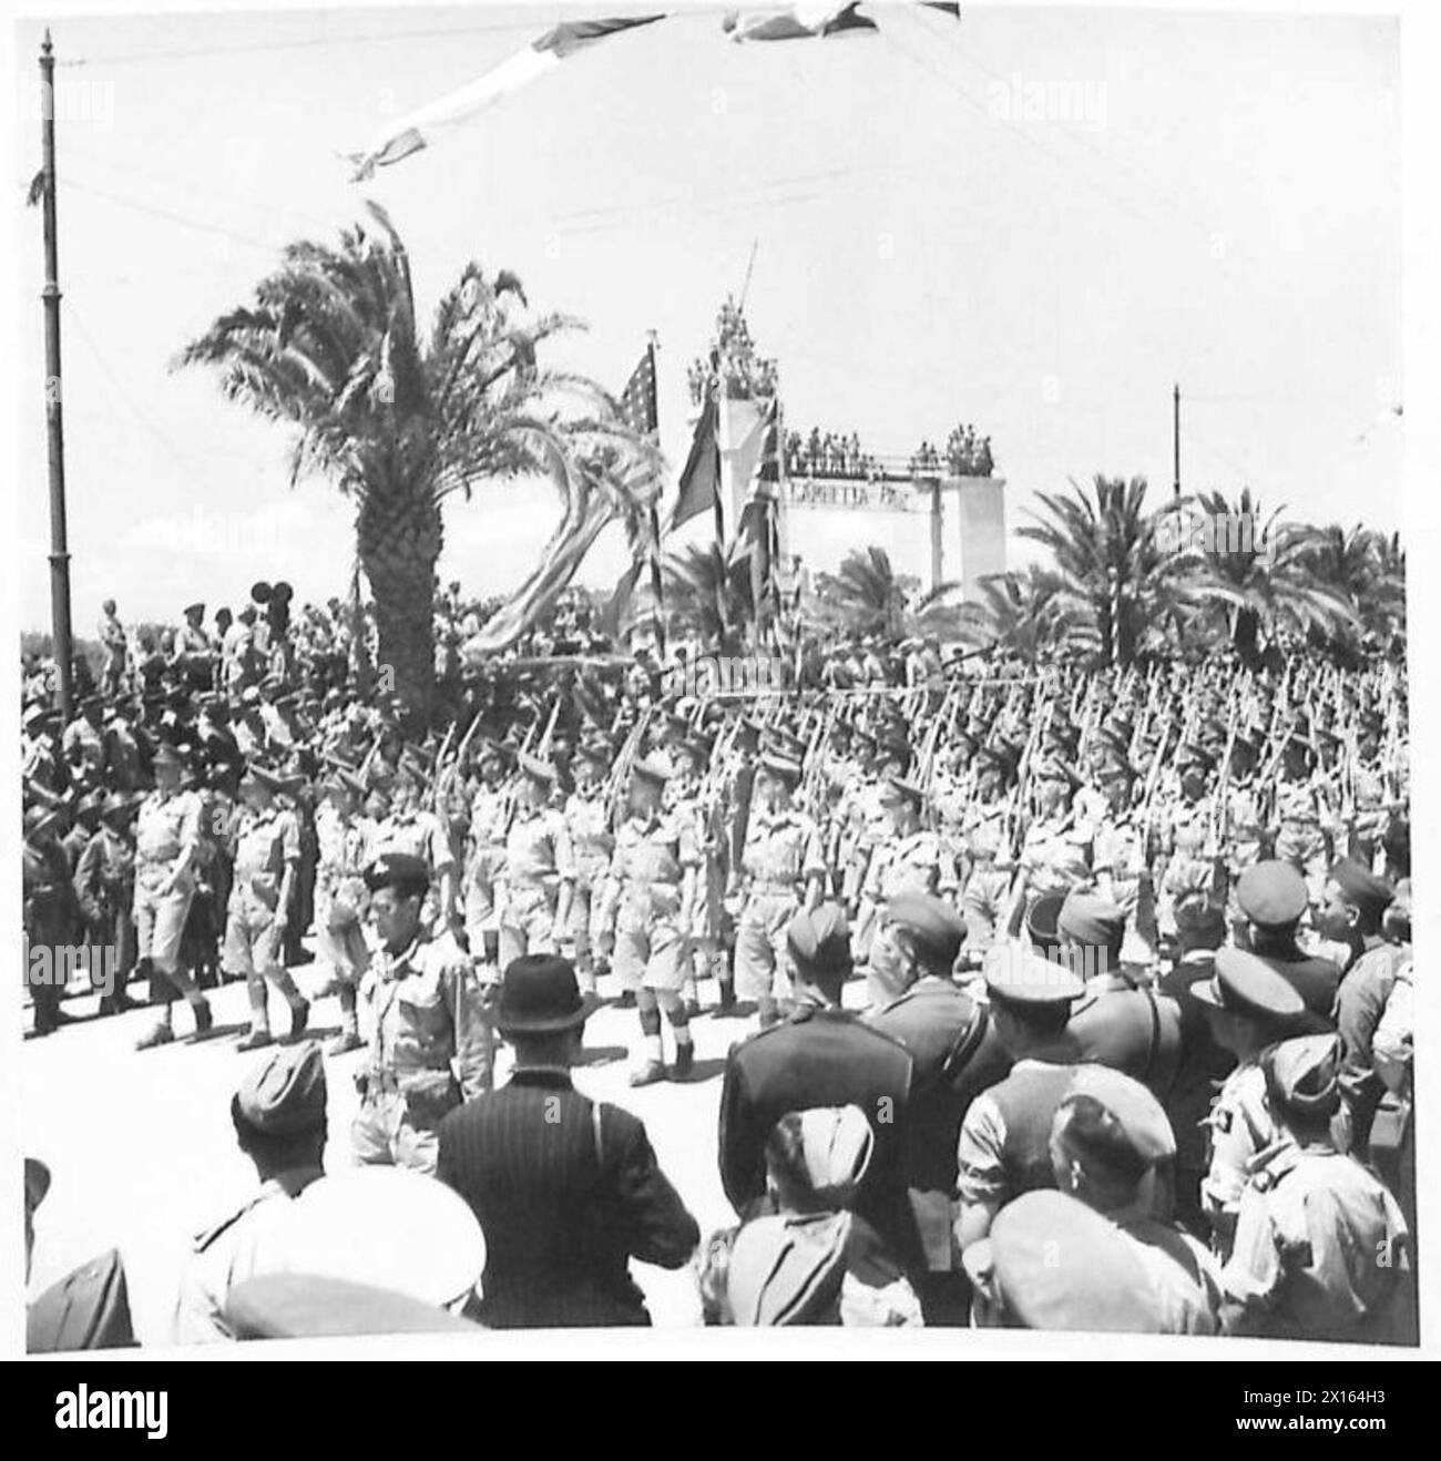
M 735 931 L 735 988 L 742 999 L 756 1001 L 763 1030 L 791 998 L 785 931 L 798 912 L 820 903 L 826 871 L 815 824 L 792 805 L 799 780 L 798 763 L 777 752 L 761 757 L 738 869 L 744 901 Z

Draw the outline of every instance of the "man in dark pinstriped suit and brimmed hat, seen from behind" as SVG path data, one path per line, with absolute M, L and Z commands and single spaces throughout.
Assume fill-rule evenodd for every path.
M 440 1124 L 436 1175 L 485 1233 L 478 1316 L 493 1328 L 649 1324 L 628 1261 L 680 1268 L 700 1242 L 642 1122 L 570 1083 L 589 1012 L 569 960 L 513 960 L 495 1018 L 510 1083 Z

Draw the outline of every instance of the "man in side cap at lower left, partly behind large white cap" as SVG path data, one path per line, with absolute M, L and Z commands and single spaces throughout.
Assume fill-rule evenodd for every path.
M 289 1201 L 324 1176 L 326 1105 L 324 1061 L 314 1040 L 266 1050 L 246 1071 L 231 1100 L 231 1124 L 260 1186 L 196 1236 L 175 1306 L 177 1344 L 235 1337 L 225 1316 L 229 1290 L 266 1271 Z

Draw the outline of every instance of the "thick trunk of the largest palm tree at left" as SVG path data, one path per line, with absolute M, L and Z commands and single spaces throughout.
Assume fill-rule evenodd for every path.
M 355 520 L 361 565 L 376 599 L 377 672 L 389 669 L 409 712 L 428 717 L 436 691 L 431 643 L 440 508 L 428 495 L 367 495 Z

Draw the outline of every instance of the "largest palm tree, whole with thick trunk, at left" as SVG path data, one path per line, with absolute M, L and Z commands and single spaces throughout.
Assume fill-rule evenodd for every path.
M 384 210 L 365 206 L 374 229 L 349 228 L 339 247 L 291 244 L 253 304 L 219 317 L 175 365 L 218 367 L 227 396 L 297 428 L 292 485 L 324 476 L 355 504 L 380 663 L 427 713 L 446 501 L 487 478 L 539 473 L 561 495 L 541 565 L 471 646 L 495 650 L 554 602 L 607 523 L 642 513 L 658 479 L 653 449 L 598 386 L 536 365 L 539 343 L 576 321 L 532 316 L 514 275 L 471 263 L 422 337 L 405 247 Z

